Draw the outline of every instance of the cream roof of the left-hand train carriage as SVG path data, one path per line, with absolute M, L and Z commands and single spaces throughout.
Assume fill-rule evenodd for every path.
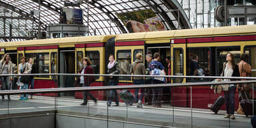
M 96 42 L 107 42 L 111 37 L 115 35 L 95 35 L 86 37 L 64 37 L 54 39 L 35 39 L 27 41 L 13 41 L 0 43 L 0 47 L 24 47 L 24 46 L 35 46 L 35 45 L 59 45 L 66 43 L 96 43 Z

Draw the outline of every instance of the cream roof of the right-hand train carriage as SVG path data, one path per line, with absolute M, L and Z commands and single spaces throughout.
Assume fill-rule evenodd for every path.
M 147 40 L 159 38 L 207 37 L 219 35 L 237 35 L 256 33 L 256 25 L 241 25 L 229 27 L 212 27 L 203 29 L 179 29 L 171 31 L 152 31 L 143 33 L 127 33 L 117 35 L 115 41 Z

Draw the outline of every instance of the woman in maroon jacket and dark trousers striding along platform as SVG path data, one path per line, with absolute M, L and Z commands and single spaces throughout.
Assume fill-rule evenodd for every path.
M 94 82 L 93 76 L 83 76 L 83 74 L 93 74 L 93 69 L 90 67 L 91 60 L 88 57 L 83 58 L 83 68 L 80 71 L 80 83 L 83 85 L 83 87 L 89 87 L 91 83 Z M 83 92 L 83 103 L 81 105 L 87 105 L 87 97 L 91 97 L 95 103 L 97 103 L 97 99 L 91 95 L 89 91 Z

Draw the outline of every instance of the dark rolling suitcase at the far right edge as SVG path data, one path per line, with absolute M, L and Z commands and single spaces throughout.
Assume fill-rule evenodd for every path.
M 245 93 L 245 91 L 243 91 Z M 243 108 L 243 112 L 245 113 L 246 116 L 248 115 L 255 115 L 256 113 L 256 101 L 254 100 L 254 103 L 253 103 L 253 99 L 249 99 L 247 97 L 247 94 L 245 93 L 245 97 L 246 99 L 243 99 L 240 101 L 240 105 L 241 107 Z M 253 104 L 254 104 L 254 108 L 253 108 Z M 253 109 L 254 109 L 254 114 L 253 114 Z

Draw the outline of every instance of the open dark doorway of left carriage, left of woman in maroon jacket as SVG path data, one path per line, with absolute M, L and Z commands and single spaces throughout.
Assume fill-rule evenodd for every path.
M 75 50 L 61 50 L 59 54 L 59 73 L 75 73 Z M 73 87 L 75 77 L 61 75 L 59 87 Z M 73 96 L 74 93 L 62 93 L 61 95 Z

